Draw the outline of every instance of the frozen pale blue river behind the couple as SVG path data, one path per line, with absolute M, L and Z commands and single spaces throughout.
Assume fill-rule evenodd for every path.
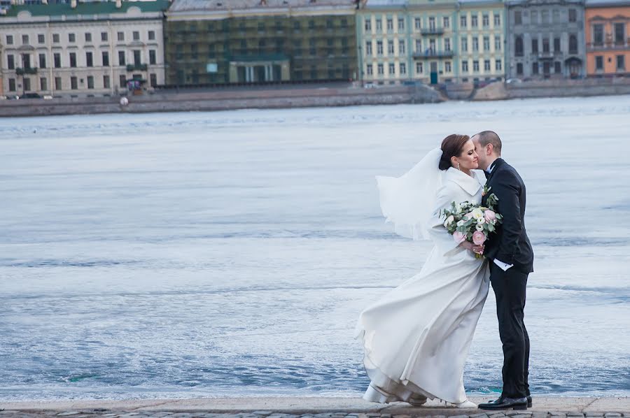
M 630 96 L 0 120 L 0 400 L 359 396 L 430 244 L 374 175 L 492 129 L 528 187 L 534 394 L 630 395 Z M 465 371 L 497 391 L 491 292 Z

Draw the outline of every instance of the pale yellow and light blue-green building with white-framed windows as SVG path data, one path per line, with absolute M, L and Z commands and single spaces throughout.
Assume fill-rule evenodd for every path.
M 368 1 L 357 17 L 363 80 L 393 84 L 502 80 L 500 1 Z

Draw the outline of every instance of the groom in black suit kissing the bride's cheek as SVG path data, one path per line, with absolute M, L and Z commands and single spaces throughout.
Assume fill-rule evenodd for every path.
M 525 231 L 525 185 L 519 173 L 501 158 L 501 140 L 493 131 L 472 136 L 479 168 L 486 172 L 482 198 L 498 198 L 496 210 L 503 215 L 496 233 L 484 250 L 490 263 L 490 282 L 496 295 L 496 316 L 503 343 L 503 391 L 500 398 L 479 404 L 480 409 L 527 409 L 529 393 L 529 337 L 523 322 L 527 276 L 533 271 L 533 251 Z

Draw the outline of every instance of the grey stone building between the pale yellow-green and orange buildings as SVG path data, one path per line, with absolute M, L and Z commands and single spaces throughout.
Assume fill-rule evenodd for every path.
M 510 78 L 586 75 L 584 2 L 524 0 L 507 3 Z

